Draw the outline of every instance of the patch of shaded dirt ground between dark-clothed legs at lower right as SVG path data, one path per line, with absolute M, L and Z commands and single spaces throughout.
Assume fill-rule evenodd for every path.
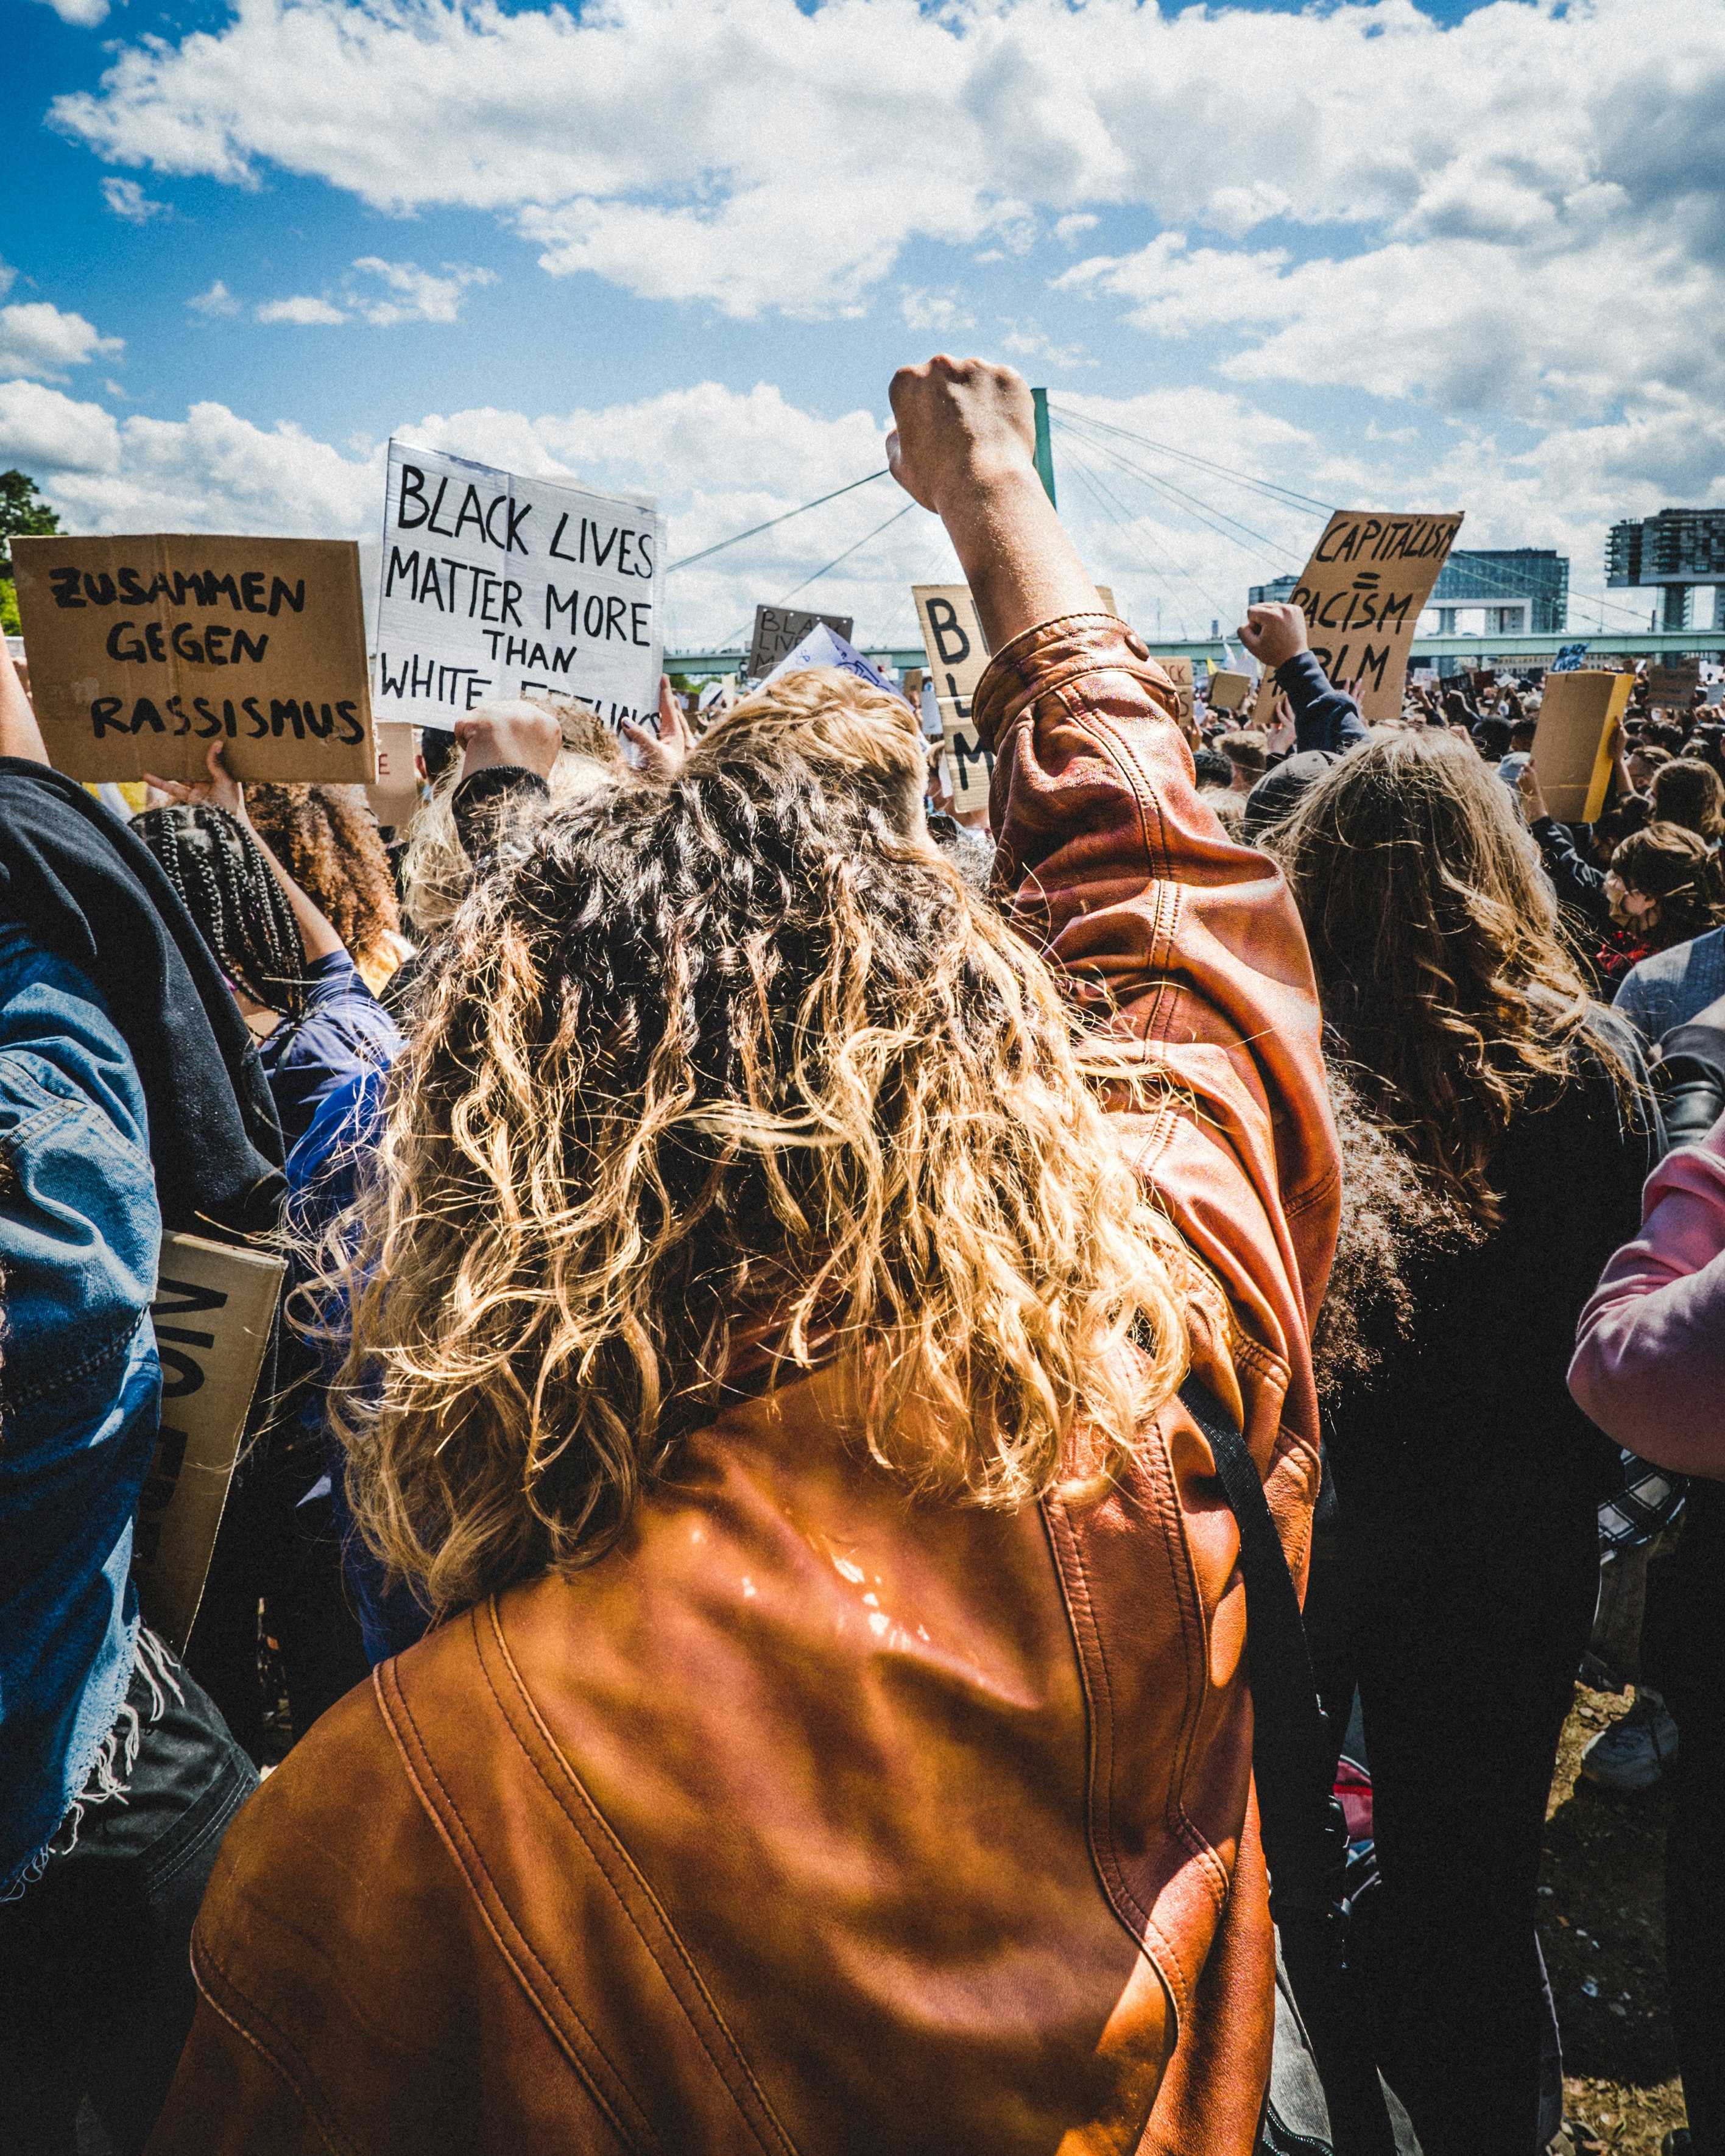
M 1563 2031 L 1563 2109 L 1609 2150 L 1658 2156 L 1684 2124 L 1665 2014 L 1665 1792 L 1581 1781 L 1581 1751 L 1634 1692 L 1589 1692 L 1563 1729 L 1540 1871 L 1540 1945 Z

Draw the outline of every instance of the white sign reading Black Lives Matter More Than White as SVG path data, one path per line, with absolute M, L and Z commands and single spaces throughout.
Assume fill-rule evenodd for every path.
M 651 500 L 390 442 L 377 718 L 448 729 L 505 696 L 574 696 L 647 724 L 662 576 Z

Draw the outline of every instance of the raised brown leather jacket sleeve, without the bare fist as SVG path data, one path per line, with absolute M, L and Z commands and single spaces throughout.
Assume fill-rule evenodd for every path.
M 996 653 L 975 701 L 996 757 L 994 873 L 1080 1007 L 1156 1065 L 1162 1104 L 1121 1112 L 1119 1138 L 1227 1298 L 1223 1369 L 1197 1337 L 1195 1354 L 1302 1567 L 1309 1328 L 1339 1192 L 1317 990 L 1281 871 L 1205 806 L 1175 709 L 1143 638 L 1108 614 L 1046 621 Z

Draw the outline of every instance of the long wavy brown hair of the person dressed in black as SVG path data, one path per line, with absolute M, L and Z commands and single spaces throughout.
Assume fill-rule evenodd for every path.
M 1589 996 L 1540 852 L 1475 750 L 1374 735 L 1274 837 L 1361 1082 L 1479 1220 L 1516 1108 L 1568 1076 Z

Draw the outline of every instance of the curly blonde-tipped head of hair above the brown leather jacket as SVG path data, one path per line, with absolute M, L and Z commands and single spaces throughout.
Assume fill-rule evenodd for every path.
M 727 1386 L 824 1367 L 908 1492 L 1022 1505 L 1177 1382 L 1179 1255 L 908 716 L 778 690 L 541 815 L 429 955 L 332 1401 L 436 1608 L 608 1548 Z

